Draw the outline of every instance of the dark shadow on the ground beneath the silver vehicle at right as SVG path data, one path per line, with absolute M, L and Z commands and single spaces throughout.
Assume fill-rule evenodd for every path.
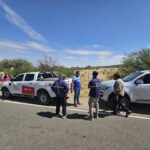
M 104 101 L 100 101 L 99 108 L 102 109 L 106 113 L 107 111 L 110 111 L 110 110 L 112 111 L 108 103 Z M 133 113 L 150 115 L 150 104 L 131 103 L 130 109 Z

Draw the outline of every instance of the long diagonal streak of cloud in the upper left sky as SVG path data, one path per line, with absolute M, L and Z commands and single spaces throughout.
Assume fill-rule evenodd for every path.
M 11 22 L 12 24 L 15 24 L 17 27 L 22 29 L 24 31 L 24 33 L 26 33 L 32 39 L 35 39 L 38 41 L 43 41 L 43 42 L 46 41 L 40 33 L 35 31 L 23 18 L 21 18 L 13 9 L 11 9 L 2 0 L 0 0 L 0 6 L 5 11 L 5 13 L 6 13 L 5 18 L 9 22 Z

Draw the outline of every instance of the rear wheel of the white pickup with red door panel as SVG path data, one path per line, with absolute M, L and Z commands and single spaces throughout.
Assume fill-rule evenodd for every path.
M 45 91 L 38 92 L 37 98 L 42 105 L 48 105 L 50 103 L 50 97 Z

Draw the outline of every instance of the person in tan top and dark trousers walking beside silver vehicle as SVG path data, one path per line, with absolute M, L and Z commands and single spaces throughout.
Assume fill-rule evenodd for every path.
M 114 77 L 114 80 L 116 80 L 114 84 L 115 99 L 113 102 L 113 113 L 117 115 L 117 113 L 119 112 L 119 108 L 121 107 L 126 112 L 125 117 L 128 117 L 131 111 L 129 110 L 129 108 L 127 108 L 126 101 L 124 98 L 124 82 L 121 79 L 121 76 L 119 73 L 115 73 L 113 77 Z

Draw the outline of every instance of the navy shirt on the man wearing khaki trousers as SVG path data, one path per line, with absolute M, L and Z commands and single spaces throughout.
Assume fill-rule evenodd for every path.
M 88 87 L 90 88 L 89 96 L 98 98 L 100 96 L 101 81 L 97 78 L 93 78 Z

